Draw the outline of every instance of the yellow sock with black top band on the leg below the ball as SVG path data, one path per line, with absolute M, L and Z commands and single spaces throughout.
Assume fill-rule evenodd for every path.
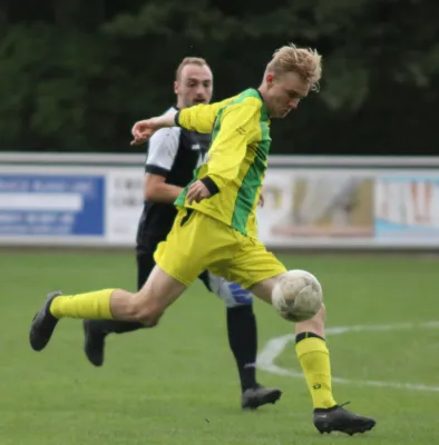
M 326 342 L 320 337 L 305 337 L 295 345 L 314 408 L 331 408 L 336 405 L 332 396 L 331 363 Z

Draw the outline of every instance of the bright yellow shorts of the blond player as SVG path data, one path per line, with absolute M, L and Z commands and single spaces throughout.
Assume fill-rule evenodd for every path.
M 178 211 L 154 258 L 163 270 L 186 286 L 205 269 L 246 289 L 286 270 L 257 239 L 186 208 Z

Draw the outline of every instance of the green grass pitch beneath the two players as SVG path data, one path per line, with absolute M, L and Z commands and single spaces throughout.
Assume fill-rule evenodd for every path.
M 439 259 L 397 256 L 283 256 L 290 267 L 318 275 L 325 289 L 329 326 L 439 319 Z M 311 423 L 304 380 L 258 372 L 284 390 L 281 402 L 240 409 L 228 350 L 225 310 L 194 285 L 156 329 L 111 336 L 106 364 L 82 354 L 77 320 L 64 320 L 46 350 L 33 353 L 28 329 L 48 290 L 133 288 L 127 253 L 0 251 L 1 445 L 433 445 L 439 443 L 439 393 L 368 387 L 362 380 L 439 386 L 438 332 L 422 327 L 330 336 L 332 369 L 353 380 L 334 384 L 340 402 L 378 419 L 363 436 L 321 436 Z M 260 345 L 293 325 L 256 303 Z M 276 364 L 299 369 L 294 345 Z

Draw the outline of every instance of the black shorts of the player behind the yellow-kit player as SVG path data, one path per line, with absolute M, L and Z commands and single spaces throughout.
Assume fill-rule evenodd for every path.
M 166 239 L 166 234 L 149 234 L 143 239 L 142 246 L 136 246 L 136 258 L 137 258 L 137 289 L 140 289 L 145 281 L 148 279 L 149 274 L 153 271 L 154 266 L 154 253 L 159 245 L 159 243 Z M 199 274 L 198 278 L 206 286 L 208 291 L 212 291 L 208 284 L 208 273 L 204 270 Z

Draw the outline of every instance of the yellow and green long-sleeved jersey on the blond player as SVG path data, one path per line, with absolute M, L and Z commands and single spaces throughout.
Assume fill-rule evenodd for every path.
M 212 132 L 208 160 L 195 170 L 192 182 L 202 179 L 216 191 L 189 205 L 186 187 L 176 206 L 202 211 L 257 237 L 256 208 L 271 146 L 270 118 L 260 92 L 247 89 L 222 102 L 185 108 L 176 123 L 191 131 Z

